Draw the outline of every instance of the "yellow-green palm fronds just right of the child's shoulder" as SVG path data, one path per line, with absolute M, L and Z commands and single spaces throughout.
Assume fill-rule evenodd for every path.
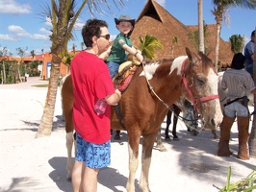
M 156 56 L 157 49 L 163 49 L 163 45 L 158 41 L 156 36 L 145 35 L 144 37 L 140 36 L 140 45 L 138 49 L 141 50 L 141 55 L 148 59 L 152 60 Z

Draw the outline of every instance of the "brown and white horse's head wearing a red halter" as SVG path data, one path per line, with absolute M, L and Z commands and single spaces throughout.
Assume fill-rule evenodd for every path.
M 192 102 L 193 107 L 204 120 L 204 128 L 215 130 L 221 122 L 221 110 L 218 101 L 218 73 L 213 63 L 213 55 L 199 55 L 192 53 L 186 48 L 189 65 L 187 81 L 191 81 L 189 89 L 191 93 L 186 94 L 187 99 Z M 187 88 L 188 89 L 188 88 Z

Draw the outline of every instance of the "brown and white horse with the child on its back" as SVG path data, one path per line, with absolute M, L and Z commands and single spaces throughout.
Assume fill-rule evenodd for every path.
M 218 102 L 218 74 L 215 66 L 204 54 L 194 54 L 186 48 L 187 56 L 175 60 L 145 62 L 139 66 L 129 87 L 120 100 L 122 124 L 127 131 L 129 148 L 129 178 L 126 189 L 135 191 L 135 175 L 139 166 L 139 145 L 142 136 L 140 188 L 149 192 L 148 174 L 153 145 L 167 108 L 181 95 L 184 95 L 204 118 L 204 126 L 214 130 L 221 119 L 216 119 L 220 111 Z M 210 56 L 209 56 L 210 57 Z M 64 82 L 64 86 L 66 81 Z M 63 102 L 72 100 L 64 99 Z M 70 85 L 69 85 L 69 90 Z M 121 129 L 115 110 L 112 115 L 112 128 Z M 71 109 L 64 111 L 70 114 Z M 65 121 L 69 121 L 65 116 Z M 66 122 L 66 126 L 72 125 Z M 68 133 L 67 133 L 68 134 Z M 72 134 L 67 135 L 67 138 Z M 67 142 L 68 144 L 68 142 Z

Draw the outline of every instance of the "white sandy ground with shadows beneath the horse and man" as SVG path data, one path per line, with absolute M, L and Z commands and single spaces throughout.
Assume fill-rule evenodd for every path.
M 27 83 L 0 84 L 0 191 L 12 192 L 57 192 L 72 191 L 66 180 L 66 149 L 61 98 L 58 90 L 53 132 L 49 137 L 35 139 L 47 88 L 32 84 L 45 84 L 38 78 L 29 78 Z M 162 124 L 164 128 L 166 122 Z M 219 132 L 218 132 L 219 133 Z M 120 141 L 112 142 L 111 166 L 102 169 L 98 177 L 98 191 L 125 191 L 128 172 L 128 148 L 126 133 Z M 180 141 L 165 142 L 167 152 L 153 150 L 149 173 L 152 192 L 214 192 L 226 182 L 227 168 L 231 166 L 231 181 L 243 180 L 256 159 L 243 161 L 235 156 L 219 157 L 218 140 L 211 132 L 200 132 L 196 137 L 186 131 L 179 121 Z M 232 128 L 230 148 L 238 151 L 236 124 Z M 141 155 L 141 154 L 140 154 Z M 141 164 L 136 177 L 139 189 Z

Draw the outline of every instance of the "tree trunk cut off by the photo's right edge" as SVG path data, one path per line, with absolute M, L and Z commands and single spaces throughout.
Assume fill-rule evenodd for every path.
M 256 36 L 254 36 L 254 61 L 253 61 L 253 80 L 256 84 Z M 256 110 L 256 97 L 254 96 L 254 111 Z M 256 114 L 253 115 L 252 127 L 249 136 L 249 154 L 250 156 L 256 156 Z

